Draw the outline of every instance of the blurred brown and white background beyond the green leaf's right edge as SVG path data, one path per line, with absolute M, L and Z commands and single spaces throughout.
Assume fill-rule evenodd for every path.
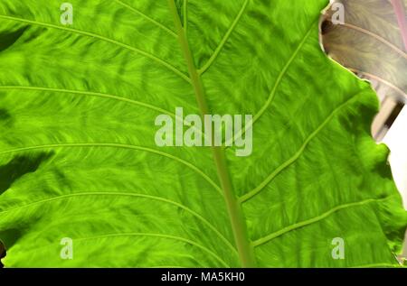
M 371 82 L 381 102 L 372 125 L 386 143 L 407 209 L 407 0 L 331 0 L 321 22 L 327 55 Z M 407 259 L 407 233 L 403 254 Z

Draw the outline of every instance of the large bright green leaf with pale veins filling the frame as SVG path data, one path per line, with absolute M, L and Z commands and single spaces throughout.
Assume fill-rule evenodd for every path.
M 0 0 L 5 267 L 398 265 L 377 99 L 321 51 L 327 0 L 70 2 Z M 252 115 L 251 154 L 157 146 L 176 107 Z

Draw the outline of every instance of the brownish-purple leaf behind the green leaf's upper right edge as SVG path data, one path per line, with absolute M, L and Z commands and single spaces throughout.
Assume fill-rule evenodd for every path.
M 407 38 L 392 5 L 396 1 L 407 7 L 406 0 L 336 0 L 345 7 L 345 23 L 332 24 L 335 11 L 328 9 L 323 42 L 334 60 L 406 101 Z

